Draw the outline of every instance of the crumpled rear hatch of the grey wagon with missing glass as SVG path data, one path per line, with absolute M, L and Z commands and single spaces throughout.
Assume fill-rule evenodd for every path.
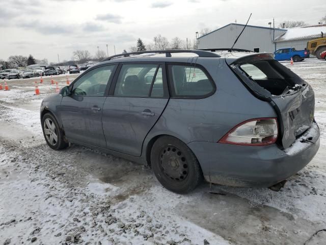
M 279 140 L 288 148 L 312 126 L 315 95 L 307 82 L 273 58 L 273 54 L 252 54 L 227 63 L 256 97 L 275 108 Z

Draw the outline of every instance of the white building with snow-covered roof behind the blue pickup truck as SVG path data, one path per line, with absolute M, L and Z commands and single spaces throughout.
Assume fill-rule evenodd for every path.
M 277 50 L 284 47 L 294 47 L 296 50 L 304 50 L 309 40 L 321 37 L 321 32 L 326 37 L 326 24 L 291 28 L 276 37 L 274 43 L 276 44 Z

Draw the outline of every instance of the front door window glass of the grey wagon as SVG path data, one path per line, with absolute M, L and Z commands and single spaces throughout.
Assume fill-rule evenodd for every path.
M 115 65 L 101 66 L 84 74 L 73 84 L 73 95 L 104 95 L 114 67 Z

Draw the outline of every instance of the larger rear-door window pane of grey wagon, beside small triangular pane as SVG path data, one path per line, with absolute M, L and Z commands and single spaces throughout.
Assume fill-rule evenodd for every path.
M 155 64 L 122 65 L 114 95 L 148 97 L 157 66 Z

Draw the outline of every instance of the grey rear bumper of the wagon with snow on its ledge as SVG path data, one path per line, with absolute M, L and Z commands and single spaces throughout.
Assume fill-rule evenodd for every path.
M 310 141 L 301 142 L 308 138 Z M 276 144 L 244 146 L 204 141 L 188 146 L 208 182 L 269 187 L 296 174 L 311 161 L 319 149 L 319 128 L 314 124 L 285 150 Z

